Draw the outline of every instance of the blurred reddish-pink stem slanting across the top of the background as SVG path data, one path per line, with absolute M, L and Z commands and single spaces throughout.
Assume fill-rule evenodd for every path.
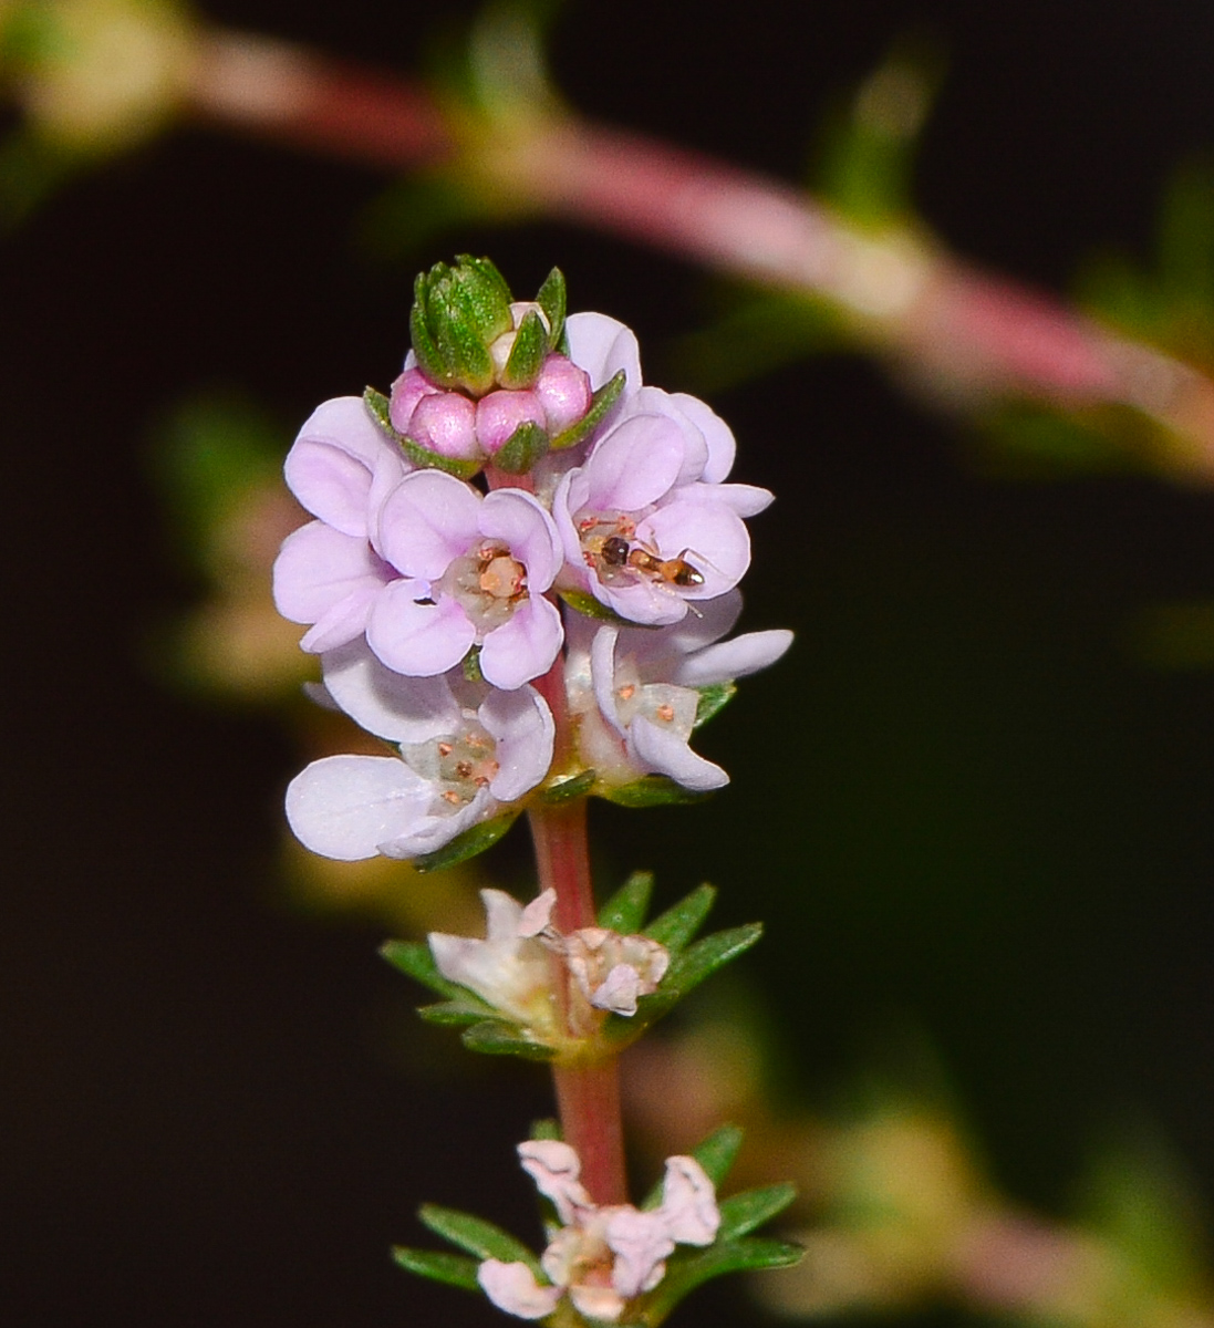
M 858 344 L 906 361 L 948 400 L 1132 406 L 1168 426 L 1161 466 L 1214 481 L 1206 374 L 910 228 L 857 231 L 800 190 L 572 116 L 474 143 L 418 84 L 244 33 L 199 37 L 186 101 L 211 122 L 380 169 L 458 162 L 470 189 L 515 206 L 810 292 Z

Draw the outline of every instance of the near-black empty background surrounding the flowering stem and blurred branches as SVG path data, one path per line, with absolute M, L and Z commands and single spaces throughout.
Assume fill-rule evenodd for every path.
M 368 0 L 209 13 L 401 70 L 432 27 Z M 554 61 L 588 113 L 797 179 L 825 108 L 912 27 L 950 54 L 923 212 L 1016 278 L 1144 251 L 1168 170 L 1214 143 L 1214 11 L 1191 0 L 583 0 Z M 381 928 L 282 903 L 291 738 L 143 660 L 191 592 L 146 478 L 155 421 L 224 386 L 298 422 L 390 380 L 410 272 L 351 243 L 383 183 L 183 129 L 0 246 L 13 1324 L 489 1323 L 387 1247 L 422 1239 L 424 1198 L 533 1230 L 511 1149 L 539 1076 L 402 1069 L 412 992 Z M 420 262 L 465 248 L 519 291 L 559 263 L 572 307 L 636 327 L 652 381 L 703 315 L 689 266 L 571 228 L 462 227 Z M 1060 1211 L 1125 1112 L 1214 1193 L 1214 675 L 1126 645 L 1152 604 L 1214 598 L 1214 495 L 984 478 L 956 425 L 854 360 L 713 404 L 740 478 L 778 493 L 748 623 L 798 641 L 703 737 L 731 790 L 596 809 L 607 870 L 652 866 L 664 898 L 711 875 L 723 922 L 768 920 L 752 975 L 810 1098 L 909 1020 L 1015 1197 Z

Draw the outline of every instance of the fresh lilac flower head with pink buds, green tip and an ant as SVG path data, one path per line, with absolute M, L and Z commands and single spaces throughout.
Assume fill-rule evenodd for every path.
M 328 700 L 398 753 L 304 770 L 296 835 L 332 858 L 416 858 L 557 781 L 727 784 L 688 745 L 705 689 L 792 639 L 721 640 L 744 519 L 772 501 L 728 482 L 728 426 L 644 385 L 623 324 L 566 319 L 559 274 L 523 303 L 486 260 L 440 264 L 410 329 L 390 397 L 325 402 L 287 457 L 315 519 L 282 547 L 276 604 L 307 627 Z M 561 769 L 554 704 L 571 721 Z

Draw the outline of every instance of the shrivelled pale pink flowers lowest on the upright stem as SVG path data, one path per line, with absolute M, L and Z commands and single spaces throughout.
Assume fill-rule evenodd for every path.
M 527 1264 L 499 1259 L 483 1260 L 477 1278 L 499 1309 L 519 1319 L 543 1319 L 568 1296 L 579 1313 L 615 1323 L 630 1300 L 661 1282 L 676 1244 L 716 1239 L 721 1218 L 713 1185 L 692 1157 L 667 1158 L 661 1203 L 642 1211 L 592 1203 L 567 1143 L 529 1139 L 518 1155 L 561 1222 L 539 1260 L 547 1283 Z

